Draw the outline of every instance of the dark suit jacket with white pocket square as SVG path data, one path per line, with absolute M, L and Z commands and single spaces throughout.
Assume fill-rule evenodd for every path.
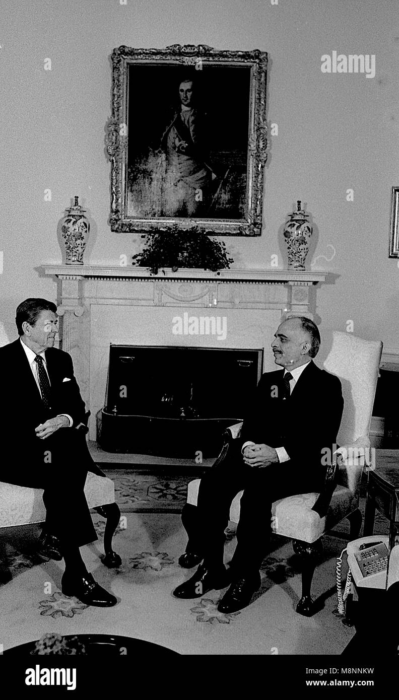
M 49 348 L 45 351 L 45 361 L 52 391 L 51 412 L 43 405 L 20 339 L 0 348 L 0 433 L 3 442 L 14 446 L 17 454 L 21 449 L 29 454 L 28 450 L 35 449 L 39 443 L 39 449 L 43 449 L 45 441 L 39 440 L 34 430 L 39 423 L 61 413 L 71 416 L 73 426 L 85 418 L 85 403 L 73 374 L 71 356 Z M 65 378 L 70 381 L 63 381 Z

